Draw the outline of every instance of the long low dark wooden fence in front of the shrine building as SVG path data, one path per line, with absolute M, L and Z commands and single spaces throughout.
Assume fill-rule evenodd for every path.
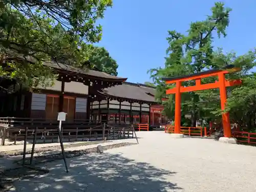
M 69 126 L 61 128 L 62 139 L 68 141 L 85 141 L 91 139 L 118 139 L 118 138 L 133 138 L 134 127 L 129 125 L 113 126 L 108 124 L 94 125 L 94 126 Z M 57 126 L 20 126 L 20 127 L 0 127 L 0 138 L 2 139 L 1 144 L 5 145 L 6 139 L 14 141 L 22 141 L 24 138 L 42 140 L 42 143 L 56 142 L 58 138 Z

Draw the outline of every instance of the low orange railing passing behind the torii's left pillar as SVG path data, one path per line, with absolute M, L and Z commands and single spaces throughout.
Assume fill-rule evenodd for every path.
M 184 135 L 188 135 L 188 136 L 208 136 L 208 132 L 206 127 L 201 127 L 201 126 L 197 126 L 197 127 L 193 127 L 193 126 L 181 126 L 180 127 L 180 133 L 184 134 Z M 165 125 L 165 129 L 164 129 L 165 133 L 174 133 L 174 126 L 173 125 Z

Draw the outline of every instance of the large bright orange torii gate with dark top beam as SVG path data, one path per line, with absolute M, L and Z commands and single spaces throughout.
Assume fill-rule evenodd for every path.
M 167 77 L 162 78 L 166 84 L 176 83 L 176 87 L 173 89 L 166 90 L 166 94 L 175 94 L 175 121 L 174 121 L 174 133 L 180 134 L 180 123 L 181 123 L 181 93 L 200 91 L 208 89 L 220 89 L 221 109 L 225 109 L 225 103 L 227 100 L 226 87 L 238 86 L 242 83 L 241 80 L 226 80 L 225 74 L 231 72 L 241 71 L 240 68 L 235 68 L 233 65 L 228 65 L 222 69 L 214 69 L 203 71 L 195 74 L 185 75 L 181 77 Z M 201 84 L 201 79 L 206 77 L 218 76 L 218 81 L 214 83 Z M 181 82 L 188 80 L 196 80 L 195 86 L 182 87 Z M 229 121 L 229 113 L 222 114 L 222 124 L 224 137 L 231 137 L 231 126 Z

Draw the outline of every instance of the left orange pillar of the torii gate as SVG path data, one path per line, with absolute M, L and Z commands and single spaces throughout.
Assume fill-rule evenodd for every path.
M 180 134 L 180 121 L 181 121 L 181 94 L 180 94 L 181 82 L 176 82 L 175 93 L 175 120 L 174 120 L 174 133 Z

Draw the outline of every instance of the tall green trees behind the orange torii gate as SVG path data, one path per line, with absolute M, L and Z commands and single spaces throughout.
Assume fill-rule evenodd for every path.
M 242 68 L 242 71 L 237 74 L 229 74 L 226 77 L 230 79 L 240 78 L 244 80 L 244 85 L 238 88 L 228 88 L 229 99 L 226 110 L 230 111 L 232 119 L 236 122 L 246 118 L 240 111 L 241 109 L 236 109 L 238 105 L 235 100 L 241 95 L 242 90 L 245 92 L 247 89 L 251 90 L 247 81 L 251 82 L 254 77 L 250 70 L 255 66 L 255 50 L 249 51 L 245 55 L 237 56 L 235 53 L 226 54 L 221 48 L 214 49 L 213 46 L 215 38 L 227 35 L 226 28 L 229 25 L 230 11 L 231 9 L 226 8 L 223 3 L 215 3 L 215 6 L 211 8 L 211 15 L 208 15 L 205 20 L 191 23 L 187 34 L 184 35 L 177 31 L 168 32 L 169 36 L 166 39 L 169 47 L 166 50 L 165 66 L 164 68 L 151 69 L 149 72 L 154 83 L 157 84 L 158 95 L 156 99 L 161 101 L 162 97 L 169 98 L 163 104 L 165 106 L 165 114 L 170 118 L 174 117 L 175 100 L 174 95 L 166 96 L 165 91 L 175 85 L 166 86 L 161 80 L 162 77 L 193 74 L 230 64 Z M 216 80 L 216 77 L 204 78 L 202 83 L 215 82 Z M 182 85 L 193 86 L 194 84 L 195 81 L 186 81 Z M 250 95 L 252 93 L 253 91 L 250 91 Z M 245 98 L 248 98 L 248 96 L 240 98 L 242 100 L 240 104 L 244 107 L 244 102 L 248 104 L 248 99 L 244 100 Z M 243 117 L 236 118 L 234 116 L 235 111 L 240 112 Z M 192 116 L 191 123 L 188 126 L 195 126 L 197 119 L 218 122 L 221 118 L 221 113 L 218 89 L 182 93 L 183 124 L 185 114 L 191 114 Z

